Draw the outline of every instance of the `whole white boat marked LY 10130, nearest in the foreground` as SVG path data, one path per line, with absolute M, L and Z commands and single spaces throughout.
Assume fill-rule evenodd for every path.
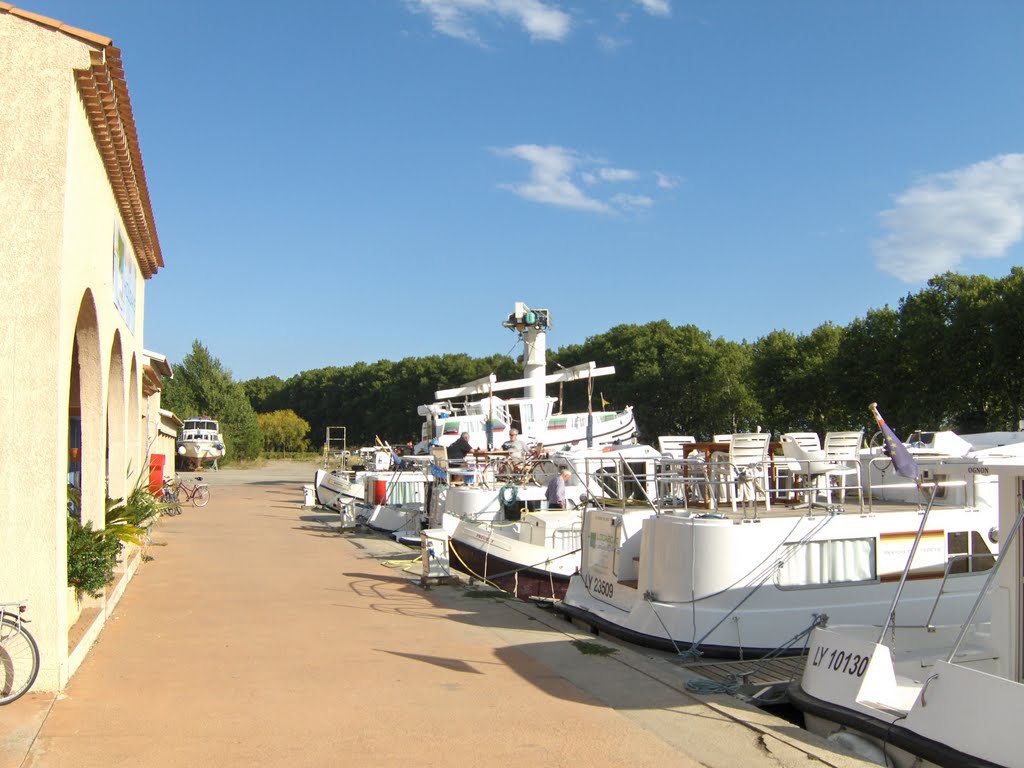
M 997 478 L 1000 555 L 954 624 L 891 630 L 873 620 L 815 630 L 790 698 L 808 729 L 888 765 L 1024 766 L 1024 459 L 1020 433 L 965 435 Z M 999 443 L 1002 443 L 1001 445 Z M 976 449 L 974 446 L 977 446 Z M 990 605 L 990 621 L 986 606 Z M 895 614 L 902 625 L 902 600 Z

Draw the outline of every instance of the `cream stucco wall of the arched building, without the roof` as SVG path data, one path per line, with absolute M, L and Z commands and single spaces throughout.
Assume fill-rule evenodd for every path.
M 130 330 L 113 301 L 120 215 L 75 84 L 92 44 L 0 13 L 0 599 L 30 601 L 37 689 L 68 676 L 67 480 L 73 349 L 82 368 L 84 517 L 138 471 L 143 279 Z M 134 256 L 129 254 L 132 259 Z M 113 352 L 113 354 L 112 354 Z M 116 413 L 106 408 L 114 382 Z M 129 420 L 129 414 L 132 418 Z M 117 435 L 105 445 L 108 419 Z

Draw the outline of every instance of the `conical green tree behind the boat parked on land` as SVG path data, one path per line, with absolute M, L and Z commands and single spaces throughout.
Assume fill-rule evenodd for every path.
M 174 366 L 174 378 L 165 381 L 161 401 L 182 419 L 217 419 L 227 449 L 225 461 L 260 455 L 263 436 L 245 388 L 198 339 L 191 352 Z

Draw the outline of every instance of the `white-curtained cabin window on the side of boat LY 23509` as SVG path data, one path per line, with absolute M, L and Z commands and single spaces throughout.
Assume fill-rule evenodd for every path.
M 876 578 L 872 537 L 786 545 L 775 583 L 779 587 L 818 587 Z

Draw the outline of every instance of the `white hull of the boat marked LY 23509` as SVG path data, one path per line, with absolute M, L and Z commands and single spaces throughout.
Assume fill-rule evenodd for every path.
M 989 518 L 933 511 L 902 591 L 901 624 L 952 624 L 967 614 L 986 573 L 949 579 L 937 601 L 946 531 L 973 529 L 980 539 Z M 898 587 L 891 569 L 905 562 L 919 519 L 915 512 L 732 520 L 589 511 L 581 572 L 559 609 L 650 647 L 693 646 L 722 657 L 800 653 L 823 622 L 870 625 L 886 614 Z M 823 554 L 831 556 L 827 568 Z

